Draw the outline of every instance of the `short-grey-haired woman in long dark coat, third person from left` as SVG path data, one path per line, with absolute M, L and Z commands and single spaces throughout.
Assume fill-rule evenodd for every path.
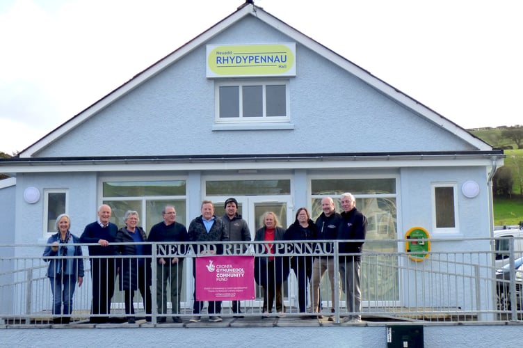
M 126 227 L 120 228 L 116 234 L 117 243 L 141 243 L 147 241 L 145 231 L 138 224 L 138 212 L 127 210 L 124 215 Z M 128 244 L 118 246 L 120 255 L 151 255 L 151 246 L 145 244 Z M 151 321 L 151 259 L 150 258 L 122 258 L 120 263 L 120 291 L 125 294 L 125 314 L 127 322 L 134 324 L 134 291 L 140 290 L 145 308 L 145 319 Z

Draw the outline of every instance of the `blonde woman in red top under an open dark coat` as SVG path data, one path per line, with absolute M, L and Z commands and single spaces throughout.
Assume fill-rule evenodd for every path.
M 256 231 L 255 241 L 274 242 L 283 240 L 285 230 L 281 228 L 276 214 L 266 212 L 263 216 L 264 227 Z M 263 253 L 271 255 L 275 253 L 273 243 L 259 244 L 263 247 Z M 255 260 L 255 280 L 264 288 L 263 313 L 271 313 L 274 297 L 276 296 L 276 310 L 285 313 L 283 306 L 283 283 L 289 276 L 289 263 L 285 257 L 262 256 Z M 266 317 L 264 315 L 264 317 Z

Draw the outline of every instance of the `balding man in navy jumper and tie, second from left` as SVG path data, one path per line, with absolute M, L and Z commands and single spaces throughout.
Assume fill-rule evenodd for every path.
M 89 246 L 89 255 L 96 256 L 91 258 L 91 277 L 92 277 L 92 308 L 90 318 L 92 323 L 105 323 L 108 321 L 111 312 L 111 299 L 113 299 L 114 286 L 116 281 L 115 258 L 106 256 L 118 255 L 115 242 L 118 226 L 109 222 L 112 210 L 106 204 L 98 208 L 97 221 L 88 224 L 80 237 L 81 243 L 97 243 L 97 246 Z

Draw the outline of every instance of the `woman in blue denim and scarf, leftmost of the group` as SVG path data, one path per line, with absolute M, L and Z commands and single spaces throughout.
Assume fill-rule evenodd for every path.
M 64 258 L 44 259 L 49 261 L 47 277 L 51 281 L 53 293 L 53 322 L 54 324 L 69 324 L 72 312 L 72 296 L 78 280 L 78 286 L 83 283 L 83 259 L 71 258 L 82 256 L 81 246 L 68 244 L 80 243 L 80 239 L 70 232 L 71 219 L 67 214 L 56 218 L 56 235 L 47 239 L 43 256 L 63 256 Z M 62 311 L 63 305 L 63 311 Z M 58 315 L 58 317 L 56 317 Z M 63 315 L 63 316 L 60 316 Z

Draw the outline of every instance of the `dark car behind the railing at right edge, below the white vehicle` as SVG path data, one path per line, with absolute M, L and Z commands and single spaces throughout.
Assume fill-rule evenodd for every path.
M 510 273 L 510 264 L 496 270 L 496 305 L 498 310 L 511 310 L 510 278 L 515 280 L 517 310 L 522 308 L 523 258 L 514 260 L 515 273 Z

